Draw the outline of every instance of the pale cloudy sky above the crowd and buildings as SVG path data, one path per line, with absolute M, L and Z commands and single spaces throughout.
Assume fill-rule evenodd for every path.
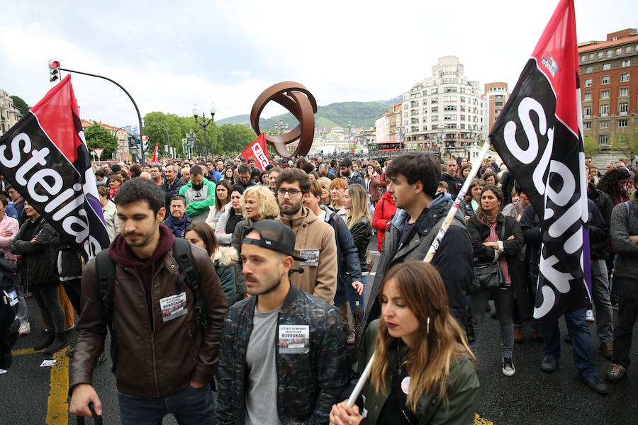
M 481 84 L 510 90 L 558 0 L 2 1 L 0 89 L 33 106 L 52 87 L 47 61 L 122 84 L 151 111 L 250 113 L 293 80 L 320 105 L 402 94 L 455 55 Z M 578 40 L 638 26 L 635 0 L 575 0 Z M 82 118 L 135 124 L 108 81 L 74 75 Z M 262 116 L 280 113 L 268 107 Z

